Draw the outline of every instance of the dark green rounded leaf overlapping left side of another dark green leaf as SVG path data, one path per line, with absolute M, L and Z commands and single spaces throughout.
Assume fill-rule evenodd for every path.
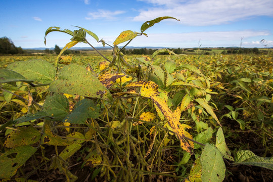
M 54 117 L 54 121 L 59 121 L 69 114 L 68 100 L 65 96 L 55 93 L 45 98 L 42 111 Z

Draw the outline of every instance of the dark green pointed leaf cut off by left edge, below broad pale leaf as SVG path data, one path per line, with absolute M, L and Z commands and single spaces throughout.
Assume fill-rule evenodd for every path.
M 32 82 L 32 80 L 26 79 L 20 73 L 5 68 L 0 69 L 0 83 L 10 83 L 15 81 Z

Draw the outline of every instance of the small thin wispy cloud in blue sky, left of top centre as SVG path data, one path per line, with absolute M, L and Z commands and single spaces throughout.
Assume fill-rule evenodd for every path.
M 125 13 L 125 11 L 108 11 L 108 10 L 98 10 L 97 12 L 90 12 L 88 16 L 85 17 L 86 20 L 92 19 L 114 19 L 116 15 Z

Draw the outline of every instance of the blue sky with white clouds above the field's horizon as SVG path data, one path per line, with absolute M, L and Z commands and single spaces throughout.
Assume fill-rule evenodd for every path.
M 64 47 L 71 36 L 51 32 L 50 26 L 77 29 L 80 26 L 112 44 L 124 30 L 140 32 L 154 18 L 172 16 L 138 36 L 134 47 L 273 47 L 272 0 L 1 0 L 0 37 L 7 36 L 17 47 Z M 93 46 L 102 46 L 87 35 Z M 260 41 L 264 39 L 263 43 Z M 122 45 L 122 44 L 121 44 Z M 88 47 L 79 43 L 75 47 Z

